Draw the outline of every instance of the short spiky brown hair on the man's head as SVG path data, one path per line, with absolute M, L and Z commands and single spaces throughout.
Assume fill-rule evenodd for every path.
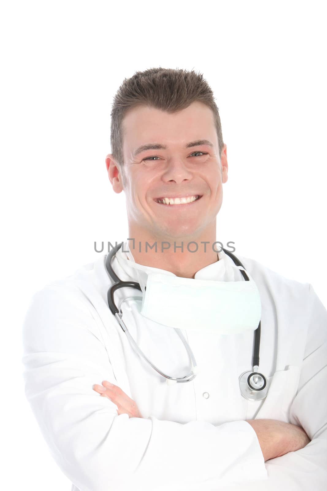
M 195 101 L 202 102 L 212 110 L 221 153 L 224 141 L 218 107 L 213 91 L 202 74 L 193 70 L 159 67 L 135 72 L 129 79 L 124 79 L 114 97 L 110 114 L 110 144 L 115 161 L 124 164 L 122 122 L 129 109 L 149 106 L 174 113 Z

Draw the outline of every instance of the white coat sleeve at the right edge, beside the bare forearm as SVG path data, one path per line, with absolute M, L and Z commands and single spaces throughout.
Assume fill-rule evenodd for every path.
M 228 487 L 228 491 L 327 489 L 327 311 L 310 284 L 306 300 L 307 340 L 290 423 L 302 427 L 311 441 L 296 452 L 266 461 L 268 480 Z

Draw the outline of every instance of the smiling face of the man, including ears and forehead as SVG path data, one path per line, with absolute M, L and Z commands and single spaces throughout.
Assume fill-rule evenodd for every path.
M 113 190 L 126 193 L 129 232 L 159 239 L 215 233 L 228 167 L 211 110 L 199 102 L 175 114 L 139 106 L 123 126 L 123 168 L 111 154 L 106 165 Z

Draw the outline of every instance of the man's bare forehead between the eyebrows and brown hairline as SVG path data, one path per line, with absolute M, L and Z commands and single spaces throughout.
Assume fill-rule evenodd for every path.
M 124 154 L 133 157 L 135 150 L 149 143 L 167 147 L 208 139 L 218 147 L 218 137 L 212 110 L 200 102 L 175 113 L 148 106 L 130 109 L 123 120 Z

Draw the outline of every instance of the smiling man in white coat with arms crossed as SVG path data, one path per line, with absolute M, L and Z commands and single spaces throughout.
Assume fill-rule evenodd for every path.
M 106 167 L 128 218 L 112 268 L 140 284 L 142 311 L 127 299 L 123 319 L 158 370 L 108 308 L 106 254 L 37 292 L 25 393 L 53 458 L 74 491 L 326 489 L 327 312 L 311 285 L 237 254 L 245 281 L 215 247 L 228 165 L 210 87 L 193 71 L 137 72 L 111 117 Z M 117 290 L 116 304 L 135 295 Z M 247 329 L 235 329 L 237 316 Z M 259 319 L 268 393 L 249 400 L 239 376 L 252 369 Z M 162 374 L 190 374 L 175 321 L 198 372 L 169 385 Z

